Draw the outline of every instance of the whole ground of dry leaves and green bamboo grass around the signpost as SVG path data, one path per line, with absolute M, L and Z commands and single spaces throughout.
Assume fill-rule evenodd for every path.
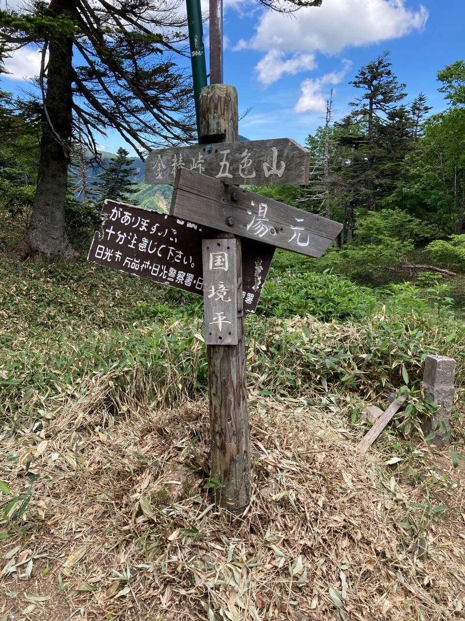
M 270 298 L 330 315 L 344 288 L 317 280 Z M 360 321 L 249 317 L 252 502 L 229 522 L 197 298 L 85 261 L 0 257 L 0 281 L 0 621 L 464 618 L 463 463 L 401 439 L 428 353 L 457 361 L 463 435 L 461 319 L 408 287 Z M 356 456 L 363 399 L 404 384 L 412 411 Z

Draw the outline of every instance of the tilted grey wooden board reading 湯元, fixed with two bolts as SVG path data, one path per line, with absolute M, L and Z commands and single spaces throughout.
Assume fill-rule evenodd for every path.
M 177 171 L 170 214 L 307 256 L 321 256 L 342 224 L 218 179 Z

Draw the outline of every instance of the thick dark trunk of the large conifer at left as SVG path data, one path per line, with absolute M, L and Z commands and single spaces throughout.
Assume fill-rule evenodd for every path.
M 69 14 L 68 0 L 53 2 L 55 12 Z M 49 44 L 37 189 L 29 229 L 20 242 L 22 258 L 30 255 L 69 259 L 77 253 L 69 242 L 64 219 L 73 124 L 73 39 L 65 35 Z

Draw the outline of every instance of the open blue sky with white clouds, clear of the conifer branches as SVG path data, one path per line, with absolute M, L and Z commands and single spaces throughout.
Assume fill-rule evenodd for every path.
M 208 0 L 202 6 L 208 9 Z M 250 140 L 304 143 L 324 123 L 330 89 L 338 119 L 357 94 L 348 82 L 385 50 L 407 84 L 405 101 L 423 91 L 439 112 L 446 104 L 436 73 L 465 58 L 464 30 L 465 0 L 323 0 L 292 16 L 265 11 L 256 0 L 224 0 L 224 81 L 236 86 L 240 112 L 252 107 L 239 130 Z M 208 24 L 205 38 L 208 55 Z M 9 61 L 12 75 L 2 88 L 24 84 L 36 57 L 23 50 Z M 127 146 L 117 134 L 101 137 L 101 145 L 110 152 Z

